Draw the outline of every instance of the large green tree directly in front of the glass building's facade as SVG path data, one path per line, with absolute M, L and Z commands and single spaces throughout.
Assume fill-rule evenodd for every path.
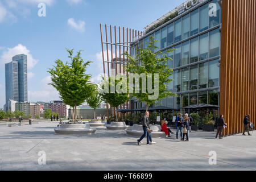
M 156 104 L 156 102 L 162 100 L 163 98 L 166 98 L 167 96 L 176 96 L 176 94 L 170 92 L 167 89 L 168 83 L 172 81 L 170 76 L 173 72 L 172 69 L 168 68 L 167 65 L 168 60 L 171 60 L 171 57 L 168 57 L 167 53 L 173 52 L 174 49 L 168 50 L 167 53 L 163 53 L 161 51 L 155 53 L 153 50 L 158 49 L 158 47 L 154 46 L 155 42 L 159 41 L 154 40 L 154 38 L 151 36 L 148 47 L 144 49 L 138 49 L 138 54 L 135 59 L 130 56 L 128 52 L 125 53 L 125 55 L 129 59 L 125 68 L 126 71 L 133 74 L 141 75 L 142 73 L 144 73 L 146 75 L 146 83 L 142 82 L 141 79 L 139 80 L 139 93 L 135 93 L 134 90 L 134 92 L 131 94 L 132 96 L 137 97 L 140 102 L 146 102 L 146 111 L 149 105 Z M 150 98 L 150 96 L 154 95 L 154 93 L 152 94 L 148 92 L 148 88 L 150 86 L 148 85 L 148 78 L 150 77 L 150 74 L 152 74 L 152 85 L 159 85 L 159 89 L 157 90 L 159 94 L 158 98 Z M 159 76 L 159 81 L 157 81 L 156 74 L 158 74 Z M 142 93 L 143 84 L 146 84 L 146 93 Z

